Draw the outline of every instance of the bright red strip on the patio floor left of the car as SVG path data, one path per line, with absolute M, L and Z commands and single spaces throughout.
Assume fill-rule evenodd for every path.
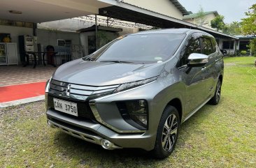
M 45 82 L 0 86 L 0 102 L 33 98 L 45 94 Z

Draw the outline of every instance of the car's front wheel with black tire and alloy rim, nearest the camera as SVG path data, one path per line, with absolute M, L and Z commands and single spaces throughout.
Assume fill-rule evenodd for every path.
M 164 159 L 171 155 L 178 139 L 180 130 L 180 116 L 173 106 L 164 109 L 157 128 L 157 138 L 152 154 L 157 159 Z

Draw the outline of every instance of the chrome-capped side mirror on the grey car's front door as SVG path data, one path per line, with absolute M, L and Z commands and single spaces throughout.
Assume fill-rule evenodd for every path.
M 188 56 L 188 66 L 202 66 L 208 63 L 208 59 L 208 55 L 192 53 Z

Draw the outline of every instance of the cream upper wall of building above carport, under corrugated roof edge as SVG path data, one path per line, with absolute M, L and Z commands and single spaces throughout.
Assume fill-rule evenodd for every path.
M 152 10 L 155 13 L 175 17 L 179 20 L 183 19 L 183 14 L 170 0 L 124 0 L 124 2 L 140 8 Z

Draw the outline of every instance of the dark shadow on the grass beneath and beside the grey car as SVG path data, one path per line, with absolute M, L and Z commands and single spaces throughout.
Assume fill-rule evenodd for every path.
M 220 104 L 222 101 L 220 102 Z M 177 148 L 182 148 L 185 142 L 190 139 L 190 136 L 197 130 L 197 122 L 209 120 L 208 115 L 213 113 L 215 106 L 205 105 L 196 114 L 194 114 L 190 119 L 182 124 L 180 129 L 180 137 L 182 140 L 178 139 L 176 144 Z M 152 157 L 150 152 L 144 151 L 139 148 L 122 148 L 115 149 L 113 151 L 108 151 L 97 144 L 92 144 L 90 142 L 85 142 L 82 139 L 72 137 L 64 132 L 58 131 L 55 133 L 54 145 L 58 149 L 59 153 L 62 153 L 65 157 L 73 158 L 79 160 L 80 164 L 83 163 L 91 164 L 129 164 L 125 162 L 138 162 L 139 165 L 152 166 L 157 164 L 157 162 L 163 162 L 163 160 L 156 160 Z M 182 150 L 182 149 L 181 149 Z M 173 152 L 176 153 L 176 150 Z M 172 155 L 169 157 L 173 157 Z M 127 165 L 126 165 L 127 166 Z M 128 165 L 129 166 L 129 165 Z

